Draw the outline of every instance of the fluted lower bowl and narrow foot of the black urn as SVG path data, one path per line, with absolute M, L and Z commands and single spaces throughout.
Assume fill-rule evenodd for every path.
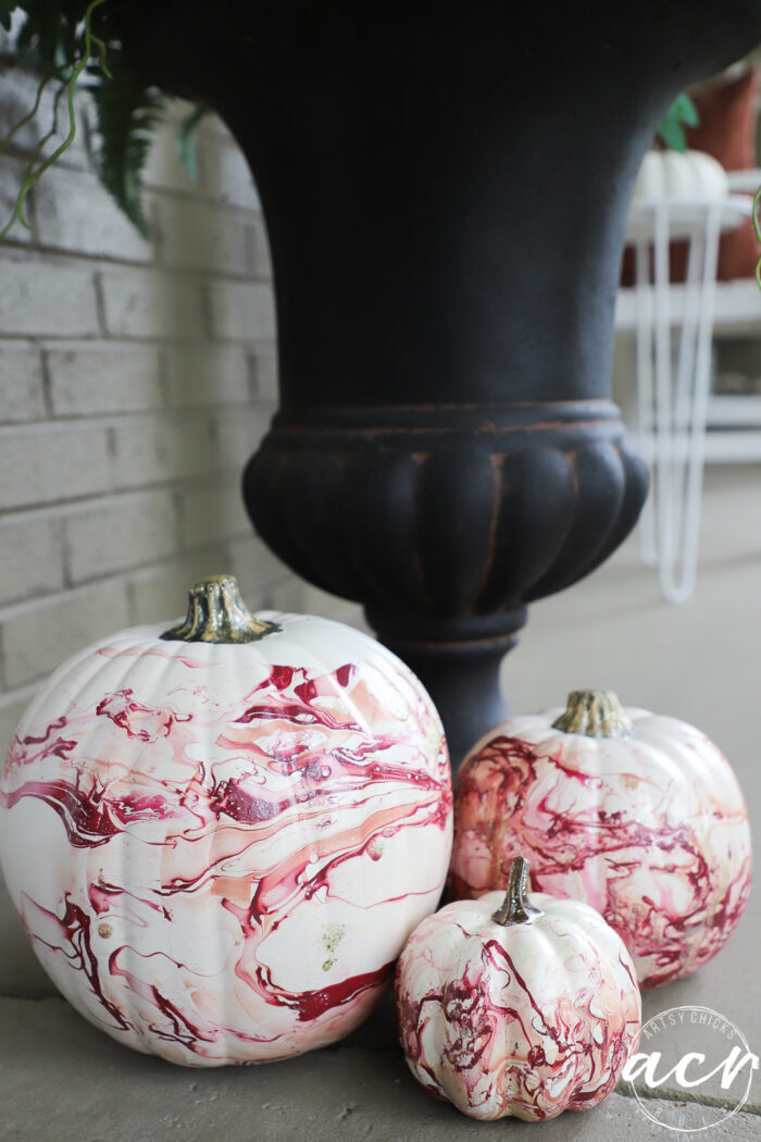
M 244 477 L 273 550 L 426 684 L 454 765 L 507 717 L 525 603 L 602 562 L 646 486 L 608 401 L 284 410 Z

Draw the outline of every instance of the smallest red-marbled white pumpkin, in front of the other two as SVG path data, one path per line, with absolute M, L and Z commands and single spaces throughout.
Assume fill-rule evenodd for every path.
M 508 893 L 458 900 L 415 928 L 396 973 L 407 1065 L 472 1118 L 536 1121 L 613 1091 L 640 1029 L 634 967 L 585 903 Z M 503 900 L 504 896 L 504 900 Z

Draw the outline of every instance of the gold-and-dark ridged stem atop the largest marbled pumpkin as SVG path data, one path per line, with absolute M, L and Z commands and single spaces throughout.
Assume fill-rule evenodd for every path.
M 180 642 L 246 643 L 282 629 L 276 622 L 267 622 L 251 613 L 235 576 L 216 574 L 191 587 L 185 621 L 164 630 L 161 637 Z

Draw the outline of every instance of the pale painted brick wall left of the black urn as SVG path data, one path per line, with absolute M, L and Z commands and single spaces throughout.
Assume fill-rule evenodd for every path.
M 2 132 L 34 83 L 0 80 Z M 245 514 L 241 472 L 277 401 L 269 251 L 219 120 L 202 126 L 199 183 L 179 164 L 186 110 L 149 160 L 151 241 L 100 190 L 80 136 L 30 195 L 34 232 L 0 246 L 0 756 L 63 659 L 169 624 L 203 574 L 232 571 L 254 608 L 362 624 L 292 576 Z M 0 210 L 33 143 L 26 129 L 0 158 Z M 39 987 L 23 949 L 0 886 L 0 992 Z

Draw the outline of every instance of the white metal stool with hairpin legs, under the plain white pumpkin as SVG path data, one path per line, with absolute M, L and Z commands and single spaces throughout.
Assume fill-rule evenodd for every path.
M 632 209 L 637 329 L 637 433 L 653 486 L 640 552 L 663 596 L 689 598 L 697 576 L 705 426 L 719 239 L 747 214 L 745 200 L 657 201 Z M 633 236 L 635 234 L 635 236 Z M 669 247 L 688 241 L 687 280 L 669 280 Z

